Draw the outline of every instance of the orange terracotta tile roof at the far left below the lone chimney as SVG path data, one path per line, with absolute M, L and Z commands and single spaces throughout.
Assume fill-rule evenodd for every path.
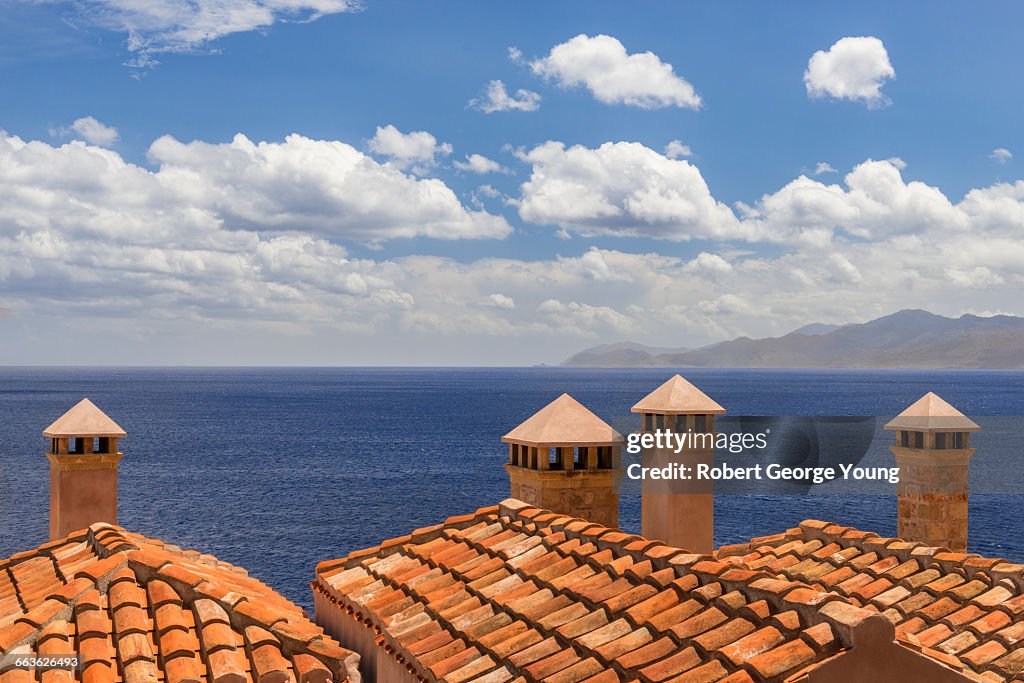
M 0 561 L 0 665 L 36 653 L 82 658 L 43 683 L 359 680 L 354 653 L 244 569 L 110 524 Z

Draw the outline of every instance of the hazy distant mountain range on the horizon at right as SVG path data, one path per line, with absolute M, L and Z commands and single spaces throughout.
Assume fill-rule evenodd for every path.
M 700 348 L 633 342 L 588 348 L 566 368 L 1024 368 L 1024 317 L 901 310 L 870 323 L 812 324 L 782 337 Z

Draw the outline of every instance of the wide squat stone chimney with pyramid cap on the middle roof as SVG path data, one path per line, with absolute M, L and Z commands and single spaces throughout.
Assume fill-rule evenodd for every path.
M 512 498 L 618 527 L 623 435 L 563 393 L 502 437 Z

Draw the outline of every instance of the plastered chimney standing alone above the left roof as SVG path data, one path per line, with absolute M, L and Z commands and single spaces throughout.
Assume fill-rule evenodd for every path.
M 46 428 L 50 439 L 50 540 L 94 522 L 118 522 L 118 439 L 127 436 L 88 398 Z

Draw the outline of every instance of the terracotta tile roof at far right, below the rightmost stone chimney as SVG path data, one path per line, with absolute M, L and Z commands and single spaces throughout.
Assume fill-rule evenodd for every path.
M 1024 678 L 1024 565 L 808 520 L 716 559 L 883 613 L 900 642 L 983 680 Z

